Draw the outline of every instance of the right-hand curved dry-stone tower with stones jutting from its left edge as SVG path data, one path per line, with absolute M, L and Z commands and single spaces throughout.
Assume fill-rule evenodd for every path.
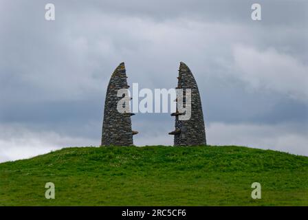
M 183 62 L 179 65 L 179 76 L 177 78 L 177 89 L 191 89 L 191 116 L 190 120 L 179 120 L 178 109 L 171 114 L 175 116 L 175 131 L 169 134 L 174 135 L 174 146 L 206 145 L 206 131 L 199 89 L 192 72 Z M 185 102 L 184 95 L 184 106 Z

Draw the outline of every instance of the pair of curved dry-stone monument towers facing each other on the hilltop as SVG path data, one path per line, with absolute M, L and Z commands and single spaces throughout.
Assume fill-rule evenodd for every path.
M 191 114 L 188 120 L 180 120 L 179 116 L 185 113 L 180 113 L 178 107 L 176 112 L 171 114 L 175 116 L 175 131 L 169 134 L 174 135 L 174 146 L 206 145 L 206 131 L 199 89 L 192 72 L 183 62 L 179 65 L 179 76 L 177 78 L 176 89 L 184 90 L 184 107 L 189 106 L 188 103 L 186 104 L 185 91 L 186 89 L 191 91 Z M 124 63 L 120 63 L 115 69 L 107 87 L 101 146 L 131 146 L 133 145 L 133 135 L 138 133 L 131 130 L 131 115 L 134 114 L 129 111 L 120 113 L 117 109 L 118 102 L 124 97 L 118 97 L 120 89 L 126 91 L 129 89 Z

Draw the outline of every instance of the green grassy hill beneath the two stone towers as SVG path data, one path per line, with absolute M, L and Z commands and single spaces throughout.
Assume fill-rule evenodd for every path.
M 45 183 L 56 199 L 45 199 Z M 253 182 L 262 199 L 250 197 Z M 1 206 L 308 206 L 308 157 L 239 146 L 63 148 L 0 164 Z

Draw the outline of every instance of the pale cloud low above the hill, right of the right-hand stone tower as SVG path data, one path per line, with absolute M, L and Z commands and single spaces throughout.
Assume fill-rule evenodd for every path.
M 294 131 L 296 124 L 276 125 L 213 123 L 208 127 L 209 144 L 240 145 L 308 155 L 307 129 Z M 220 137 L 223 136 L 223 139 Z

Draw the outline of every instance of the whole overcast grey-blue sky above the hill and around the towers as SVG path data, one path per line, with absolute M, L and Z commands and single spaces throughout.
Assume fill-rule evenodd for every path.
M 208 144 L 308 155 L 307 12 L 307 1 L 0 0 L 0 162 L 98 146 L 122 61 L 140 89 L 176 87 L 184 61 Z M 137 146 L 173 144 L 170 113 L 137 113 L 132 125 Z

